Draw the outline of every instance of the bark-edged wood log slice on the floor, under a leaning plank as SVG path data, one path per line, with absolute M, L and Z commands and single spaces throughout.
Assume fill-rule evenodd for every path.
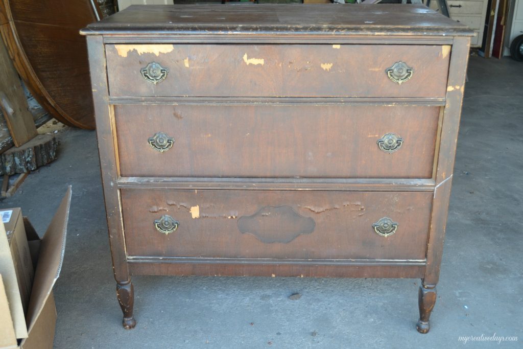
M 58 141 L 51 134 L 39 134 L 21 147 L 0 154 L 0 175 L 35 171 L 56 159 Z

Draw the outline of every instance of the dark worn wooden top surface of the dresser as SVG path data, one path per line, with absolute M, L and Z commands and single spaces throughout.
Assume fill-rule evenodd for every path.
M 133 5 L 82 29 L 83 35 L 169 33 L 459 35 L 468 27 L 423 5 Z

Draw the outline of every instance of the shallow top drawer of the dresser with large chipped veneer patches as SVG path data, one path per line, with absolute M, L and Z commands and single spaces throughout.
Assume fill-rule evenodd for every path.
M 106 54 L 118 97 L 444 98 L 450 46 L 107 44 Z

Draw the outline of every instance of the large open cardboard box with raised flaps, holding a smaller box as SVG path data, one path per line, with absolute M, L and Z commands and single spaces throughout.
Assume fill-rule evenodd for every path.
M 41 240 L 29 220 L 22 219 L 31 260 L 36 262 L 25 316 L 7 234 L 4 224 L 0 224 L 1 349 L 53 347 L 56 308 L 52 289 L 62 267 L 71 193 L 69 187 Z

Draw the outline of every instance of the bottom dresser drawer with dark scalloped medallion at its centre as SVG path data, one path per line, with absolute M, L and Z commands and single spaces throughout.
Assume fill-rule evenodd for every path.
M 127 254 L 151 257 L 423 260 L 432 204 L 431 192 L 122 189 L 121 198 Z

